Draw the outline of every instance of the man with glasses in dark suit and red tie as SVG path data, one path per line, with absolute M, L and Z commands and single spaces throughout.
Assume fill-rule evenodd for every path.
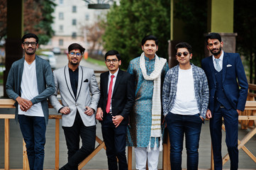
M 101 74 L 101 98 L 96 119 L 101 121 L 108 169 L 126 170 L 126 128 L 135 102 L 134 81 L 131 74 L 119 69 L 121 56 L 116 50 L 106 52 L 105 63 L 109 72 Z

